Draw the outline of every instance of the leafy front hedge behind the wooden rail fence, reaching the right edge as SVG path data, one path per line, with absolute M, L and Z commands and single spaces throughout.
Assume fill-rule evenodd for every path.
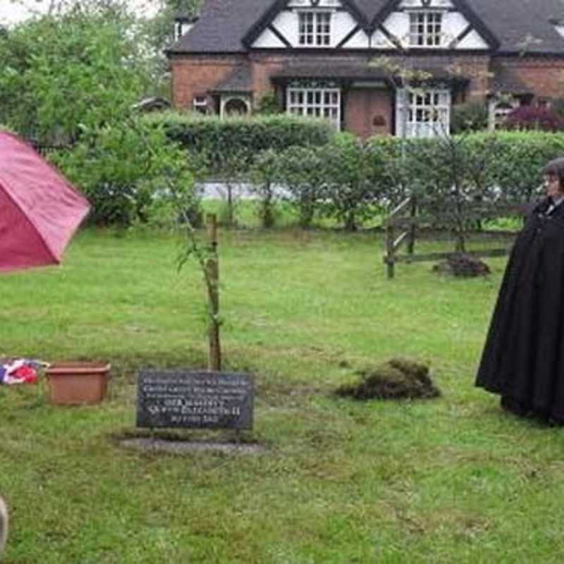
M 339 134 L 322 147 L 262 152 L 248 174 L 263 202 L 263 219 L 276 200 L 273 187 L 283 185 L 304 226 L 317 215 L 354 229 L 408 195 L 417 195 L 436 223 L 462 224 L 474 213 L 469 204 L 522 204 L 539 197 L 541 168 L 559 156 L 564 134 L 374 137 L 366 143 Z

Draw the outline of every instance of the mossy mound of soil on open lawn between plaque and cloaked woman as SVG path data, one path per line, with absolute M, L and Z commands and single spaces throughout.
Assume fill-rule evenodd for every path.
M 336 394 L 355 400 L 436 398 L 441 392 L 431 381 L 426 364 L 393 358 L 376 367 L 360 370 L 360 382 L 344 384 Z

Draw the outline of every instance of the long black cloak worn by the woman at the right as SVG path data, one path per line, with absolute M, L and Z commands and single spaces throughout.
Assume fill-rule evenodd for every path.
M 476 385 L 564 422 L 564 202 L 544 200 L 510 253 Z

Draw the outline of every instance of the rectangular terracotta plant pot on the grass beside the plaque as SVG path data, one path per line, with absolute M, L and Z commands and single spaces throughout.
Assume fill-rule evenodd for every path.
M 45 374 L 49 400 L 56 405 L 100 403 L 108 391 L 110 365 L 104 362 L 56 362 Z

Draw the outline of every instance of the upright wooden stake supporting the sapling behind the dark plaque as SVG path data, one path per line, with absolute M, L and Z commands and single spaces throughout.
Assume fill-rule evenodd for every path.
M 207 214 L 209 256 L 206 260 L 206 282 L 209 300 L 209 357 L 208 369 L 221 370 L 221 343 L 219 341 L 219 260 L 217 257 L 217 216 Z

